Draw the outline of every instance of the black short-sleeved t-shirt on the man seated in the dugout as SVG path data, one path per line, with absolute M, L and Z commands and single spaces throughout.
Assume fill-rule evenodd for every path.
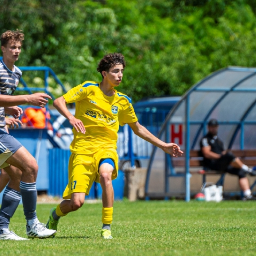
M 216 154 L 221 154 L 222 151 L 225 150 L 223 142 L 218 138 L 218 136 L 212 135 L 209 132 L 200 140 L 201 153 L 202 153 L 202 148 L 207 146 L 210 146 L 211 151 Z M 211 159 L 207 159 L 204 157 L 204 166 L 209 166 L 211 162 L 212 162 Z

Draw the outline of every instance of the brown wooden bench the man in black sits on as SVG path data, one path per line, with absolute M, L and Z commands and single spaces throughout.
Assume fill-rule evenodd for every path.
M 256 149 L 234 149 L 231 150 L 231 152 L 239 157 L 241 161 L 248 165 L 249 167 L 256 166 Z M 173 165 L 174 167 L 181 167 L 185 166 L 185 160 L 176 158 L 173 159 Z M 207 171 L 204 170 L 203 166 L 203 156 L 200 152 L 200 150 L 190 150 L 189 152 L 189 167 L 198 167 L 200 168 L 197 171 L 190 171 L 191 174 L 197 173 L 197 174 L 202 174 L 203 175 L 203 183 L 206 181 L 206 175 L 220 175 L 220 172 L 218 171 Z M 224 183 L 224 177 L 225 173 L 221 175 L 220 179 L 217 181 L 216 185 L 221 185 L 223 186 Z M 256 181 L 252 184 L 251 189 L 256 185 Z

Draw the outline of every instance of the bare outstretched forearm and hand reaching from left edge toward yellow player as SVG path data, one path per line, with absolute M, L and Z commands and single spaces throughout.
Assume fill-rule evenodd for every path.
M 52 99 L 51 96 L 43 92 L 17 96 L 0 95 L 0 107 L 12 107 L 28 103 L 33 106 L 44 108 L 48 103 L 48 99 Z

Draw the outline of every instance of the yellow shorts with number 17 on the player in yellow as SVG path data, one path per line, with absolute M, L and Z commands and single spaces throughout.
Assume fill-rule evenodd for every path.
M 100 149 L 91 155 L 72 153 L 68 162 L 68 185 L 63 192 L 63 199 L 71 199 L 73 193 L 89 194 L 94 181 L 100 182 L 99 162 L 111 158 L 115 163 L 112 180 L 118 174 L 118 156 L 115 149 Z

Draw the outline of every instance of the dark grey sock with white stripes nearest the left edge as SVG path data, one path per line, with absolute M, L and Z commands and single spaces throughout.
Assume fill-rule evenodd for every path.
M 6 187 L 0 209 L 0 228 L 9 228 L 10 219 L 20 203 L 20 192 Z

